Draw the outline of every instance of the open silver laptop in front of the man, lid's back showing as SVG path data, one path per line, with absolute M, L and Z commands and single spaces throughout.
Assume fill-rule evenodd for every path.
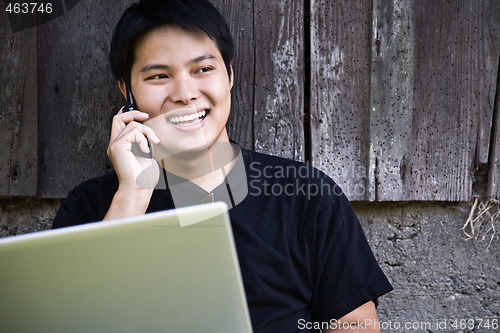
M 227 206 L 1 239 L 0 332 L 252 332 Z

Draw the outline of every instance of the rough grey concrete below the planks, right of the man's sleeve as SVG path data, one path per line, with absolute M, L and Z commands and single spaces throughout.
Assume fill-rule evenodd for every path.
M 379 300 L 383 332 L 500 332 L 500 227 L 488 249 L 465 240 L 471 206 L 353 203 L 394 286 Z

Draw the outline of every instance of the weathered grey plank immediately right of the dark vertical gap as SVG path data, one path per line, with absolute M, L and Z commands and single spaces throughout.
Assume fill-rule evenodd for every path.
M 368 199 L 371 22 L 368 1 L 311 1 L 312 161 L 350 200 Z

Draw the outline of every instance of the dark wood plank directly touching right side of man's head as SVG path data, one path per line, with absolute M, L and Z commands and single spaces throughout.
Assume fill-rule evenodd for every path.
M 212 3 L 227 20 L 236 44 L 232 107 L 227 124 L 229 137 L 242 147 L 253 149 L 254 1 L 212 0 Z

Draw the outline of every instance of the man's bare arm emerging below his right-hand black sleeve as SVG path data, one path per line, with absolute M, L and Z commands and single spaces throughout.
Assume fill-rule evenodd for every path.
M 328 332 L 379 333 L 380 325 L 375 303 L 369 301 L 349 312 L 335 322 L 332 325 L 332 329 L 325 331 L 325 333 Z

